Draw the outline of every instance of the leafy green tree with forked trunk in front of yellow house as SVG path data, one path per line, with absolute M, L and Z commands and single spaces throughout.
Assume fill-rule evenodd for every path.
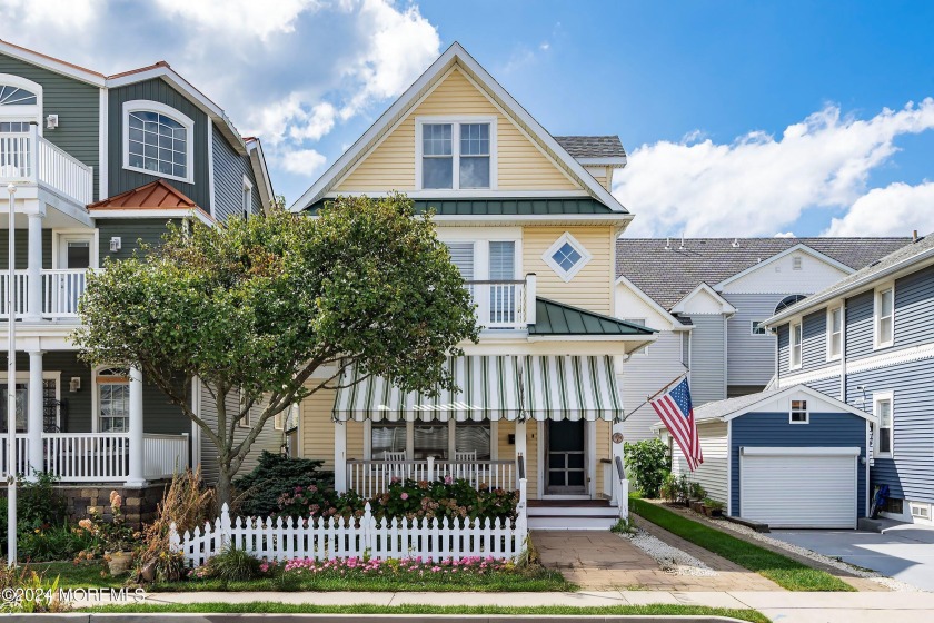
M 435 395 L 455 386 L 446 358 L 477 339 L 447 247 L 401 195 L 337 199 L 318 218 L 274 207 L 217 227 L 169 225 L 160 246 L 89 275 L 80 314 L 87 362 L 137 367 L 217 447 L 220 502 L 266 423 L 337 387 L 348 366 Z M 191 408 L 195 377 L 216 426 Z

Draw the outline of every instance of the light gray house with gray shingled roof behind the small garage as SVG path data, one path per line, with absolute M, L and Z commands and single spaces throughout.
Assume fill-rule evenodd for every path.
M 654 436 L 646 398 L 687 374 L 695 405 L 753 394 L 773 380 L 776 346 L 761 323 L 908 243 L 910 238 L 620 238 L 616 314 L 682 339 L 619 366 L 627 441 Z M 808 324 L 807 338 L 819 332 Z M 809 344 L 809 343 L 808 343 Z M 779 355 L 781 356 L 781 355 Z M 806 357 L 816 357 L 808 348 Z M 825 387 L 819 387 L 822 390 Z M 836 394 L 833 394 L 836 395 Z

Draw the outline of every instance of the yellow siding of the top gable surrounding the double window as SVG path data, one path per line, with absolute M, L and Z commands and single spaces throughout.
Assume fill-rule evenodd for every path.
M 408 117 L 386 137 L 349 176 L 337 192 L 415 190 L 415 119 L 437 115 L 484 115 L 497 118 L 498 188 L 500 190 L 578 190 L 518 127 L 455 69 Z

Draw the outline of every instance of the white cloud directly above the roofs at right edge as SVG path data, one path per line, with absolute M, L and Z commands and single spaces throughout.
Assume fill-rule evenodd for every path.
M 908 236 L 934 233 L 934 182 L 901 181 L 874 188 L 856 199 L 846 216 L 835 218 L 827 236 Z

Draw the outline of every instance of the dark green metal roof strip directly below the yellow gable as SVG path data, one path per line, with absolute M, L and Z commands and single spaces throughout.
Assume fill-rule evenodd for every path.
M 319 199 L 308 206 L 307 211 L 316 214 L 325 202 Z M 528 199 L 415 199 L 415 211 L 423 214 L 429 208 L 438 216 L 547 216 L 582 214 L 624 214 L 612 209 L 593 197 L 528 198 Z

